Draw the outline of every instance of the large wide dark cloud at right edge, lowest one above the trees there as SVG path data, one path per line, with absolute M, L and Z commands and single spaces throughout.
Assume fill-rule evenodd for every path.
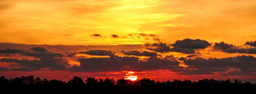
M 255 73 L 256 59 L 251 55 L 238 55 L 222 59 L 188 59 L 184 60 L 184 64 L 189 66 L 174 71 L 180 71 L 178 74 L 214 74 L 214 72 L 220 72 L 227 75 L 242 75 Z M 226 73 L 227 71 L 229 72 Z

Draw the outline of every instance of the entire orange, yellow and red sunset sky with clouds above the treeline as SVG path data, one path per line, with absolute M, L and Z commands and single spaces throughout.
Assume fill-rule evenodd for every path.
M 117 80 L 131 71 L 255 83 L 255 8 L 253 0 L 1 0 L 0 76 Z

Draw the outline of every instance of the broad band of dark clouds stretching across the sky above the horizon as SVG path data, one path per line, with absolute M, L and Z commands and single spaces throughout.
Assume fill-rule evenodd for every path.
M 145 71 L 145 70 L 170 70 L 177 74 L 184 75 L 253 75 L 255 74 L 256 58 L 252 55 L 237 55 L 235 57 L 226 58 L 209 58 L 204 59 L 196 53 L 195 50 L 212 47 L 215 51 L 221 50 L 225 53 L 253 53 L 254 42 L 248 42 L 243 46 L 235 46 L 224 42 L 214 43 L 212 46 L 209 42 L 201 39 L 183 39 L 177 40 L 174 44 L 154 43 L 144 44 L 145 50 L 130 50 L 126 56 L 120 57 L 119 65 L 111 65 L 109 57 L 116 52 L 104 49 L 92 49 L 86 51 L 72 52 L 52 52 L 52 49 L 46 47 L 32 48 L 7 48 L 0 49 L 0 55 L 4 58 L 0 59 L 1 71 L 35 71 L 35 70 L 66 70 L 71 72 L 88 71 Z M 249 46 L 248 46 L 249 45 Z M 156 52 L 181 52 L 191 53 L 184 57 L 174 55 L 157 54 Z M 95 57 L 79 57 L 76 54 L 96 55 Z M 20 54 L 23 58 L 11 58 Z M 134 55 L 134 56 L 131 56 Z M 26 57 L 28 56 L 28 58 Z M 33 58 L 31 58 L 31 56 Z M 140 56 L 146 56 L 140 57 Z M 67 58 L 67 59 L 66 59 Z M 78 65 L 71 65 L 70 58 L 79 62 Z M 182 65 L 181 65 L 182 64 Z

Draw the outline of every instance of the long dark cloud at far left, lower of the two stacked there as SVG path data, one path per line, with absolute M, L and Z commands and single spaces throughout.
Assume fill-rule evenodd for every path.
M 42 68 L 49 68 L 49 70 L 67 70 L 67 66 L 70 66 L 68 60 L 61 57 L 37 56 L 36 58 L 39 58 L 39 60 L 2 58 L 0 61 L 10 63 L 9 67 L 13 68 L 9 70 L 14 71 L 34 71 L 42 70 Z

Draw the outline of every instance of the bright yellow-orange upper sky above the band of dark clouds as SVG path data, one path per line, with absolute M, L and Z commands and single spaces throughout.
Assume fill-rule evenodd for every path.
M 253 0 L 5 0 L 0 42 L 125 44 L 124 36 L 142 29 L 167 43 L 190 38 L 240 45 L 256 38 L 255 8 Z

